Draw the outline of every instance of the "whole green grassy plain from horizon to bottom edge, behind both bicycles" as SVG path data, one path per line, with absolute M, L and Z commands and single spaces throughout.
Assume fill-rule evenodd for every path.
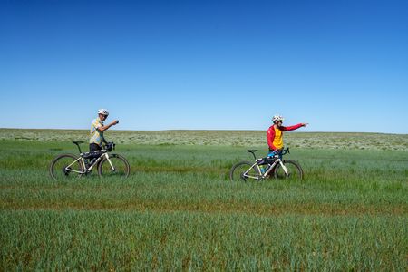
M 0 269 L 407 270 L 408 135 L 287 133 L 305 180 L 229 181 L 264 134 L 108 131 L 129 179 L 56 182 L 86 131 L 0 129 Z

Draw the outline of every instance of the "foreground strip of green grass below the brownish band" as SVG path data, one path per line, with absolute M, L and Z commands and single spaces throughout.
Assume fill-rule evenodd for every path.
M 403 271 L 406 266 L 401 217 L 25 210 L 5 211 L 0 223 L 7 230 L 5 270 Z

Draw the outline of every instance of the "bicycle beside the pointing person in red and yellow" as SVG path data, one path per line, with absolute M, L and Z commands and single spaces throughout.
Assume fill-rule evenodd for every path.
M 241 161 L 232 166 L 229 171 L 229 178 L 232 181 L 248 179 L 264 180 L 268 178 L 302 180 L 303 170 L 300 164 L 295 160 L 282 160 L 282 156 L 289 153 L 289 148 L 280 151 L 274 157 L 257 159 L 255 152 L 257 150 L 248 150 L 252 153 L 255 163 Z

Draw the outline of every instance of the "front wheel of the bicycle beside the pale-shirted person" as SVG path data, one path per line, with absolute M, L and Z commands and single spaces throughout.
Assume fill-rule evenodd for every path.
M 98 174 L 102 177 L 127 178 L 131 172 L 128 160 L 118 154 L 109 155 L 109 159 L 103 158 L 98 166 Z

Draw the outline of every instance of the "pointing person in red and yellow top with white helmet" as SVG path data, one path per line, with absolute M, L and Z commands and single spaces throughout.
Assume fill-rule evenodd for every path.
M 306 127 L 308 125 L 308 123 L 301 122 L 294 126 L 284 127 L 282 125 L 284 119 L 280 115 L 275 115 L 272 118 L 272 121 L 274 124 L 267 130 L 267 145 L 269 146 L 268 157 L 273 157 L 283 149 L 283 131 L 295 131 L 298 128 Z

